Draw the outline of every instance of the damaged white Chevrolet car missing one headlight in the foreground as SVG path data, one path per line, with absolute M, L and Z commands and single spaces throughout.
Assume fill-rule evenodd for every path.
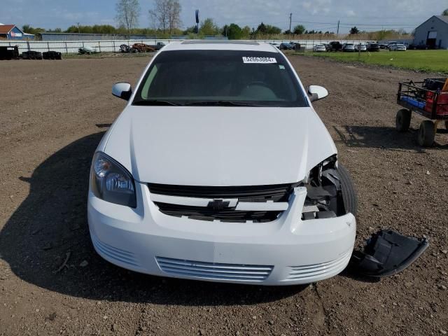
M 290 285 L 349 262 L 357 199 L 288 59 L 267 43 L 169 43 L 92 161 L 88 222 L 113 264 L 183 279 Z

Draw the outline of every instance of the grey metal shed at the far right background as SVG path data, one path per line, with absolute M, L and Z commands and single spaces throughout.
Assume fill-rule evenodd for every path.
M 433 15 L 416 27 L 414 44 L 430 48 L 448 49 L 448 16 Z

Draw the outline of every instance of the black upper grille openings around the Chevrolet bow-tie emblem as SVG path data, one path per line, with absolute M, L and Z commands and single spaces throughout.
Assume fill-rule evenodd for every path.
M 237 199 L 239 202 L 288 202 L 290 194 L 299 183 L 276 184 L 269 186 L 173 186 L 149 183 L 150 193 L 179 197 L 206 198 L 211 200 Z M 193 207 L 155 202 L 163 214 L 187 216 L 202 221 L 220 220 L 223 222 L 244 223 L 253 221 L 265 223 L 274 221 L 283 211 L 241 211 L 235 207 L 214 209 L 213 207 Z

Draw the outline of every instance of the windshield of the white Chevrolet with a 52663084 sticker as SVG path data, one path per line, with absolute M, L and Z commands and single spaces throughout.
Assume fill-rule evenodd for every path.
M 132 104 L 308 106 L 282 55 L 241 50 L 160 52 Z

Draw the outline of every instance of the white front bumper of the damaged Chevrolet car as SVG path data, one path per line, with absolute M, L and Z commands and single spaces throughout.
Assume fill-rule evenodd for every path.
M 356 235 L 352 214 L 301 221 L 306 188 L 269 223 L 199 221 L 162 214 L 148 187 L 136 183 L 137 209 L 89 193 L 95 250 L 120 267 L 183 279 L 292 285 L 328 279 L 349 262 Z

